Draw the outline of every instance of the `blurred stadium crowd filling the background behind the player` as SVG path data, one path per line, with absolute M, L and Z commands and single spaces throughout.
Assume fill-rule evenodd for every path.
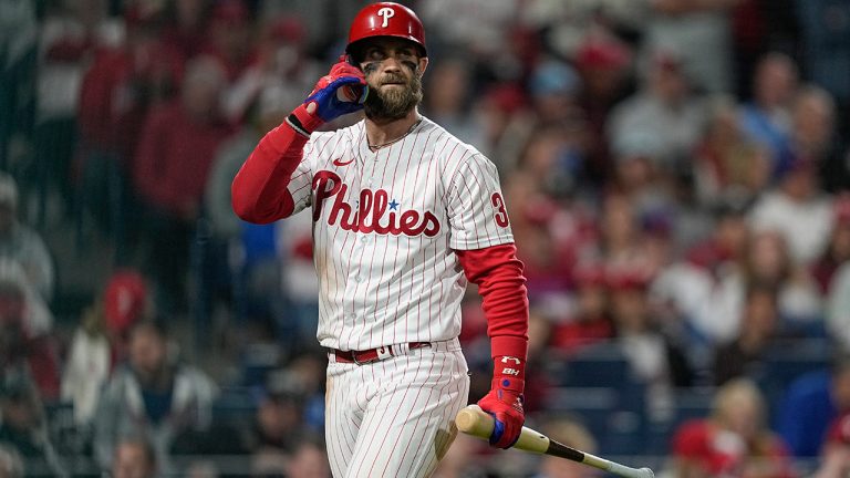
M 329 476 L 310 218 L 245 224 L 229 195 L 365 3 L 0 0 L 0 477 Z M 499 169 L 529 424 L 671 477 L 847 476 L 850 2 L 403 3 L 421 112 Z M 62 254 L 93 248 L 69 306 L 94 272 Z M 577 378 L 600 355 L 628 378 Z M 599 475 L 464 436 L 438 472 Z

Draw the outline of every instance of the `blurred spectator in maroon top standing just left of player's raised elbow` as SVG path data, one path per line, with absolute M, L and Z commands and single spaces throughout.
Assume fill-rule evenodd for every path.
M 147 236 L 143 271 L 156 283 L 158 305 L 185 305 L 189 240 L 219 145 L 232 133 L 220 116 L 225 72 L 198 56 L 186 69 L 180 97 L 151 112 L 136 153 L 134 183 Z

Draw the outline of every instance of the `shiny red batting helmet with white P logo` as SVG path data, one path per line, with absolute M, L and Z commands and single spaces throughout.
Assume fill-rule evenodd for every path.
M 366 6 L 361 10 L 349 30 L 349 45 L 345 53 L 353 54 L 353 46 L 361 40 L 372 37 L 396 37 L 410 40 L 425 50 L 425 28 L 413 10 L 394 2 L 379 2 Z

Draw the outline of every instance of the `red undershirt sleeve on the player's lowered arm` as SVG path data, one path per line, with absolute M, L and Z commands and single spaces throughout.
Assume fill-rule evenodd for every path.
M 487 316 L 490 355 L 528 355 L 528 293 L 522 262 L 512 243 L 456 250 L 469 282 L 478 285 Z

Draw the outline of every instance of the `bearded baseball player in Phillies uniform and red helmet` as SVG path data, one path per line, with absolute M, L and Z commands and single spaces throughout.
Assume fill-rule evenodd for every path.
M 490 444 L 508 448 L 519 436 L 522 263 L 493 163 L 417 111 L 428 58 L 416 14 L 365 7 L 345 53 L 260 141 L 234 179 L 234 209 L 260 224 L 312 215 L 333 475 L 426 477 L 467 404 L 457 337 L 468 282 L 483 297 L 495 363 L 478 402 L 496 419 Z M 317 132 L 360 110 L 353 126 Z

